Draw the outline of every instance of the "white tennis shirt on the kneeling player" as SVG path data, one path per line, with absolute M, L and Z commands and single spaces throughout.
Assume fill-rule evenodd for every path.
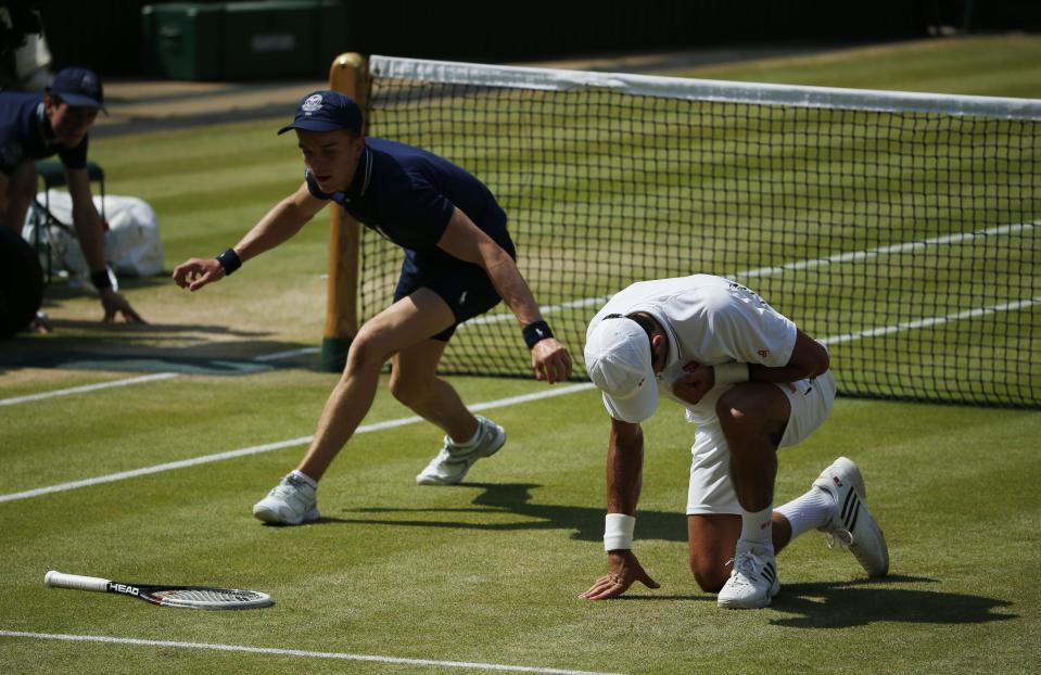
M 729 384 L 712 387 L 698 404 L 681 400 L 672 384 L 690 361 L 718 366 L 729 361 L 784 366 L 796 345 L 796 324 L 763 298 L 729 279 L 694 275 L 639 281 L 614 295 L 589 322 L 586 340 L 604 317 L 646 311 L 669 334 L 669 357 L 658 375 L 658 392 L 687 409 L 687 419 L 715 418 L 715 403 Z M 610 411 L 610 408 L 608 408 Z

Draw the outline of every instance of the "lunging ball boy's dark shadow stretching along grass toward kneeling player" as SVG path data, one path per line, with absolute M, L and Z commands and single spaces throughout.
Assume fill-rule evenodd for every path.
M 371 525 L 399 525 L 407 527 L 447 527 L 459 530 L 482 530 L 491 532 L 510 532 L 518 530 L 570 530 L 571 538 L 582 542 L 600 542 L 604 538 L 604 508 L 576 507 L 563 505 L 532 504 L 532 489 L 541 487 L 534 483 L 462 483 L 458 488 L 477 487 L 482 492 L 471 501 L 470 508 L 358 508 L 345 509 L 348 513 L 403 515 L 408 513 L 444 514 L 453 513 L 507 513 L 537 519 L 513 523 L 474 523 L 465 520 L 404 520 L 401 518 L 322 518 L 317 523 L 355 523 Z M 665 542 L 687 540 L 687 517 L 684 513 L 664 511 L 639 511 L 639 538 L 662 539 Z

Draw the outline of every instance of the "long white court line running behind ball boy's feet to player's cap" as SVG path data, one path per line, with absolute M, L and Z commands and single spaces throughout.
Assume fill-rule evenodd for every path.
M 582 384 L 571 384 L 569 386 L 554 387 L 550 390 L 545 390 L 534 394 L 524 394 L 522 396 L 511 396 L 509 398 L 499 398 L 498 400 L 490 400 L 486 403 L 477 404 L 470 406 L 470 410 L 480 411 L 480 410 L 491 410 L 492 408 L 503 408 L 506 406 L 512 406 L 522 403 L 529 403 L 532 400 L 539 400 L 543 398 L 551 398 L 554 396 L 563 396 L 564 394 L 571 394 L 573 392 L 582 392 L 588 389 L 593 389 L 593 384 L 585 382 Z M 372 424 L 363 424 L 355 430 L 355 434 L 364 434 L 373 431 L 382 431 L 384 429 L 393 429 L 395 426 L 404 426 L 406 424 L 415 424 L 416 422 L 421 422 L 421 417 L 404 417 L 396 420 L 386 420 L 384 422 L 374 422 Z M 202 457 L 193 457 L 191 459 L 182 459 L 180 461 L 172 461 L 164 464 L 155 464 L 153 467 L 143 467 L 141 469 L 132 469 L 130 471 L 120 471 L 119 473 L 110 473 L 107 475 L 99 475 L 92 479 L 84 479 L 81 481 L 73 481 L 71 483 L 61 483 L 59 485 L 50 485 L 48 487 L 37 487 L 36 489 L 27 489 L 21 493 L 12 493 L 9 495 L 0 495 L 0 502 L 3 501 L 16 501 L 18 499 L 28 499 L 30 497 L 39 497 L 40 495 L 49 495 L 51 493 L 61 493 L 69 489 L 78 489 L 80 487 L 90 487 L 91 485 L 101 485 L 103 483 L 114 483 L 115 481 L 125 481 L 126 479 L 134 479 L 140 475 L 149 475 L 151 473 L 162 473 L 164 471 L 173 471 L 175 469 L 186 469 L 188 467 L 195 467 L 199 464 L 207 464 L 215 461 L 224 461 L 225 459 L 234 459 L 236 457 L 245 457 L 246 455 L 259 455 L 261 453 L 270 453 L 271 450 L 280 450 L 282 448 L 293 447 L 296 445 L 306 445 L 314 440 L 314 436 L 301 436 L 299 438 L 290 438 L 289 441 L 279 441 L 277 443 L 268 443 L 265 445 L 254 445 L 252 447 L 240 448 L 238 450 L 227 450 L 225 453 L 217 453 L 215 455 L 204 455 Z

